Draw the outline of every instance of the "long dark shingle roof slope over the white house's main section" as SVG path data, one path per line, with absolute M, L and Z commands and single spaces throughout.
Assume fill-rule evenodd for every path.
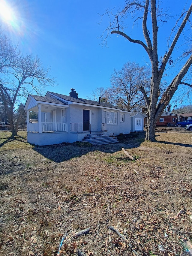
M 67 95 L 62 95 L 62 94 L 59 94 L 59 93 L 55 93 L 55 92 L 49 92 L 65 101 L 71 101 L 71 102 L 76 102 L 76 103 L 82 103 L 82 104 L 90 104 L 90 105 L 95 105 L 95 106 L 100 106 L 100 107 L 109 107 L 109 108 L 116 108 L 116 109 L 121 109 L 120 107 L 116 107 L 112 104 L 108 104 L 108 103 L 105 103 L 105 102 L 101 102 L 99 103 L 98 101 L 90 101 L 90 100 L 86 100 L 86 99 L 81 99 L 81 98 L 73 98 L 71 96 L 67 96 Z

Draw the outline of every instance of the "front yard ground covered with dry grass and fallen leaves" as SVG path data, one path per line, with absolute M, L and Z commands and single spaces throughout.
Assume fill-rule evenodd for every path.
M 58 255 L 192 255 L 192 132 L 144 138 L 34 146 L 0 132 L 0 255 L 57 255 L 64 235 Z

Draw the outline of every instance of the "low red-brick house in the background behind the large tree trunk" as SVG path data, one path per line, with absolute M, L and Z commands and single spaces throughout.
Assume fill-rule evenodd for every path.
M 142 112 L 142 114 L 145 116 L 144 118 L 144 126 L 147 126 L 147 117 L 146 117 L 147 111 Z M 156 123 L 156 126 L 167 126 L 167 123 L 170 123 L 171 126 L 175 126 L 177 122 L 185 121 L 187 118 L 173 113 L 163 112 L 160 116 L 159 120 Z

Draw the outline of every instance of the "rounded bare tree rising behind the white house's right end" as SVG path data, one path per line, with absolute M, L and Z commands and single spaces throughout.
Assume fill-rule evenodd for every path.
M 108 88 L 110 102 L 127 110 L 140 110 L 145 106 L 141 86 L 149 94 L 149 69 L 140 67 L 136 62 L 127 62 L 122 69 L 114 69 L 111 76 L 111 87 Z

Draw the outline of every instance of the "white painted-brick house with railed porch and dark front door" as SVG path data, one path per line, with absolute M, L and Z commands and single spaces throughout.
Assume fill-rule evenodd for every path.
M 29 95 L 27 140 L 35 145 L 81 141 L 86 135 L 102 132 L 108 136 L 128 134 L 130 112 L 101 101 L 78 98 L 75 89 L 70 96 L 47 92 L 45 97 Z M 29 112 L 38 112 L 38 122 L 29 122 Z

